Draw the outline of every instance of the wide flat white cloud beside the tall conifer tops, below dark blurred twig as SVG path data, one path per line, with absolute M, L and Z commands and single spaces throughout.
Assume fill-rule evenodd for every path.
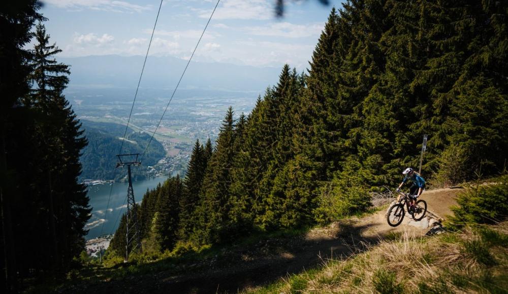
M 285 38 L 305 38 L 319 36 L 323 29 L 322 24 L 292 24 L 289 22 L 272 23 L 268 26 L 255 26 L 246 28 L 253 35 L 281 36 Z

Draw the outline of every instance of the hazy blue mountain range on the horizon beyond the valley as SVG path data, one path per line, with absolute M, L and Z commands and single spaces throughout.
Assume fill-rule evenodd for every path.
M 60 58 L 71 65 L 70 88 L 133 88 L 139 81 L 143 56 L 94 55 Z M 141 88 L 174 89 L 187 60 L 149 56 Z M 277 80 L 280 68 L 190 62 L 179 89 L 263 93 Z

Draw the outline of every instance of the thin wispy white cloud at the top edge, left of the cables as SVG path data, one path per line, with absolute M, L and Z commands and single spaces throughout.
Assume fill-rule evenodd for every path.
M 152 5 L 136 5 L 116 0 L 45 0 L 46 3 L 70 10 L 103 10 L 113 12 L 142 12 L 151 10 Z

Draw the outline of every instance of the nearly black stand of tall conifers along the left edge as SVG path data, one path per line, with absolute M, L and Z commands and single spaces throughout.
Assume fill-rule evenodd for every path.
M 0 9 L 0 263 L 7 293 L 34 275 L 66 273 L 83 250 L 91 211 L 77 180 L 87 140 L 63 95 L 70 68 L 55 59 L 61 50 L 49 42 L 40 5 L 26 0 Z

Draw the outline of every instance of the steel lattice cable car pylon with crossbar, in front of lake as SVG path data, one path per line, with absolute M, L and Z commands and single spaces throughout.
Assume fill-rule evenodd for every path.
M 129 261 L 129 253 L 135 251 L 136 249 L 139 253 L 142 253 L 143 250 L 141 248 L 141 233 L 139 231 L 138 224 L 138 209 L 136 208 L 136 200 L 134 200 L 134 190 L 132 188 L 132 179 L 131 179 L 131 165 L 139 166 L 141 162 L 138 161 L 139 153 L 135 154 L 119 154 L 118 163 L 116 167 L 124 167 L 127 166 L 127 174 L 129 177 L 129 188 L 127 188 L 127 224 L 125 230 L 125 261 Z M 134 159 L 133 161 L 125 162 L 122 158 Z M 131 250 L 129 250 L 131 249 Z

